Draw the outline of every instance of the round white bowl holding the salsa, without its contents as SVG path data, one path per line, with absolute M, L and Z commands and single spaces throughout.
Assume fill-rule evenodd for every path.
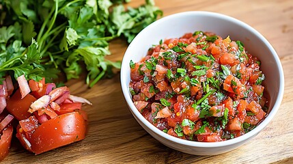
M 159 40 L 165 38 L 178 38 L 184 33 L 193 31 L 211 31 L 225 38 L 230 36 L 232 40 L 240 40 L 245 44 L 249 53 L 262 61 L 261 70 L 266 76 L 264 85 L 270 96 L 268 116 L 256 128 L 249 133 L 214 143 L 198 141 L 187 141 L 172 137 L 158 130 L 148 120 L 143 118 L 132 102 L 129 92 L 130 67 L 132 59 L 137 62 L 144 57 L 152 44 L 158 44 Z M 249 141 L 262 131 L 262 129 L 273 119 L 281 105 L 284 90 L 283 69 L 279 57 L 268 40 L 249 25 L 240 20 L 212 12 L 182 12 L 161 18 L 143 29 L 131 42 L 124 54 L 121 69 L 121 85 L 124 98 L 137 122 L 148 131 L 152 137 L 175 150 L 196 155 L 214 155 L 234 150 L 243 143 Z M 273 146 L 273 145 L 272 145 Z

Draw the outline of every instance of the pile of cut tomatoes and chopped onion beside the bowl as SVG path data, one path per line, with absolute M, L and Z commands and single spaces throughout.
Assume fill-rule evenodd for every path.
M 23 147 L 35 154 L 85 138 L 87 113 L 81 105 L 91 104 L 88 100 L 44 79 L 27 81 L 22 75 L 17 81 L 15 90 L 10 76 L 0 85 L 0 161 L 9 152 L 14 127 Z

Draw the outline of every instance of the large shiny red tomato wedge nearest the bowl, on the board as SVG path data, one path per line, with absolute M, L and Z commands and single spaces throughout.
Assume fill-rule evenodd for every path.
M 87 124 L 83 116 L 78 112 L 58 115 L 56 118 L 41 124 L 33 131 L 27 140 L 31 143 L 31 152 L 40 154 L 61 146 L 66 146 L 75 141 L 85 139 Z M 21 137 L 21 128 L 18 129 L 16 137 Z M 23 139 L 20 143 L 27 148 Z

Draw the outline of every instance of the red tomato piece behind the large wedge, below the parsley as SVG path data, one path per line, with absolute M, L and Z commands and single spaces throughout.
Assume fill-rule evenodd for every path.
M 23 99 L 21 99 L 20 91 L 17 90 L 14 95 L 7 100 L 6 109 L 11 113 L 17 120 L 25 120 L 29 118 L 31 113 L 28 112 L 31 103 L 36 101 L 36 98 L 27 94 Z

